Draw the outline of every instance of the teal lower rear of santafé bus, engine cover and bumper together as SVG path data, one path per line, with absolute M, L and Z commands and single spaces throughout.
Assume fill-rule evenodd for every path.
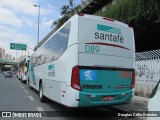
M 132 97 L 132 69 L 79 67 L 79 106 L 128 103 Z

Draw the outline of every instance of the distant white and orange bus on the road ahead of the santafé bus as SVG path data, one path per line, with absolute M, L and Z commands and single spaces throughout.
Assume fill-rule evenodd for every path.
M 24 58 L 23 60 L 20 61 L 19 63 L 19 69 L 18 69 L 18 79 L 22 80 L 22 82 L 27 82 L 27 71 L 28 71 L 28 67 L 27 64 L 29 61 L 29 56 L 27 56 L 26 58 Z

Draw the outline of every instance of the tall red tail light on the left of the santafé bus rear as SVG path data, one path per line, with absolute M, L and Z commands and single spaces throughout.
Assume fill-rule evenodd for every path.
M 75 66 L 72 69 L 71 87 L 76 90 L 81 90 L 78 66 Z

